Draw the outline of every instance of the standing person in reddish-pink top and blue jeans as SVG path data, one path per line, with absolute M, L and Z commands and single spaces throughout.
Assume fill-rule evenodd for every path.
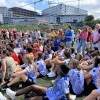
M 85 56 L 85 49 L 86 49 L 86 44 L 87 44 L 87 37 L 88 37 L 88 32 L 87 32 L 87 27 L 84 27 L 82 32 L 80 33 L 80 43 L 77 48 L 77 52 L 80 52 L 80 48 L 82 47 L 82 55 L 83 57 Z

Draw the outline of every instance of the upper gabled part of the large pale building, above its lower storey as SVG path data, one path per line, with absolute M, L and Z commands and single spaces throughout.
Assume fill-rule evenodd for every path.
M 73 6 L 59 4 L 43 10 L 43 15 L 87 15 L 87 11 Z

